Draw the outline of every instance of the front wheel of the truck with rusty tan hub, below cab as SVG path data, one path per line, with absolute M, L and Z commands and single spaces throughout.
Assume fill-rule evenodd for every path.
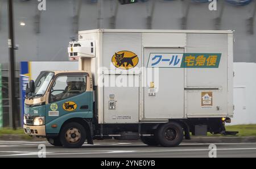
M 77 122 L 69 122 L 60 130 L 60 142 L 67 148 L 79 148 L 86 140 L 84 126 Z

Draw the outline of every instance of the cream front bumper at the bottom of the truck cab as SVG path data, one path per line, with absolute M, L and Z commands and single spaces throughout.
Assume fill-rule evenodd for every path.
M 46 136 L 46 126 L 23 125 L 24 133 L 30 136 Z

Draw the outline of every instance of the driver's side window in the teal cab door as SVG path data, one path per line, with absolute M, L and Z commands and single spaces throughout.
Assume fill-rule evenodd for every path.
M 86 91 L 86 75 L 60 75 L 51 88 L 50 102 L 71 98 Z

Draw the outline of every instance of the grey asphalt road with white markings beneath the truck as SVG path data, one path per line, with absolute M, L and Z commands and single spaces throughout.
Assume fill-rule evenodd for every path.
M 39 145 L 46 146 L 46 157 L 108 157 L 108 158 L 155 158 L 155 157 L 209 157 L 210 143 L 181 143 L 178 147 L 150 147 L 139 141 L 96 141 L 94 145 L 84 145 L 80 149 L 54 147 L 48 142 L 1 141 L 0 158 L 35 157 Z M 222 157 L 256 157 L 256 143 L 215 143 L 216 156 Z

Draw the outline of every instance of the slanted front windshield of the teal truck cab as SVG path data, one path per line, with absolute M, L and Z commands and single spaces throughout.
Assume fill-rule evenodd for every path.
M 49 86 L 54 73 L 42 71 L 35 81 L 35 96 L 43 96 Z

